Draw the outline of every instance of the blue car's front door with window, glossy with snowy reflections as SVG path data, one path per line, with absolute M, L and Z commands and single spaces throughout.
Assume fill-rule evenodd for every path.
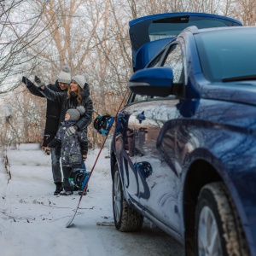
M 162 66 L 172 67 L 174 83 L 180 87 L 186 83 L 184 79 L 182 44 L 171 44 L 167 50 Z M 139 173 L 139 202 L 143 209 L 168 225 L 173 230 L 180 232 L 181 209 L 178 198 L 180 195 L 180 170 L 178 166 L 170 165 L 157 148 L 157 141 L 163 125 L 170 120 L 180 118 L 177 110 L 179 100 L 175 95 L 165 98 L 153 97 L 149 102 L 137 104 L 135 114 L 143 113 L 143 120 L 135 122 L 138 148 L 135 166 Z M 168 153 L 175 158 L 177 131 L 171 129 L 168 133 Z

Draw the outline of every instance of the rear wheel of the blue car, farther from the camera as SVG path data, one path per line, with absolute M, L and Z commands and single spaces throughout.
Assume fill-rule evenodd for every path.
M 114 166 L 112 196 L 113 218 L 116 229 L 123 232 L 141 230 L 143 226 L 143 216 L 133 210 L 125 200 L 117 164 Z

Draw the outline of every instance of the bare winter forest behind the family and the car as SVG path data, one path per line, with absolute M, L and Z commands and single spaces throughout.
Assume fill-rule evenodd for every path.
M 22 76 L 55 83 L 63 65 L 89 75 L 97 113 L 115 114 L 132 73 L 129 21 L 145 15 L 201 12 L 256 25 L 256 0 L 0 0 L 0 146 L 40 143 L 46 100 Z M 91 124 L 90 143 L 102 143 Z

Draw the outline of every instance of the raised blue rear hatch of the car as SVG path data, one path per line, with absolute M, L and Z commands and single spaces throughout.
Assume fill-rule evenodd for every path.
M 188 26 L 200 28 L 242 26 L 241 22 L 220 15 L 201 13 L 169 13 L 149 15 L 129 22 L 134 72 L 146 67 L 170 38 Z

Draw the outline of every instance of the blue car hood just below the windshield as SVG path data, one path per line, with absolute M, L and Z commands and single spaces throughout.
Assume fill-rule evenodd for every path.
M 201 98 L 256 106 L 256 81 L 206 84 L 201 89 Z

